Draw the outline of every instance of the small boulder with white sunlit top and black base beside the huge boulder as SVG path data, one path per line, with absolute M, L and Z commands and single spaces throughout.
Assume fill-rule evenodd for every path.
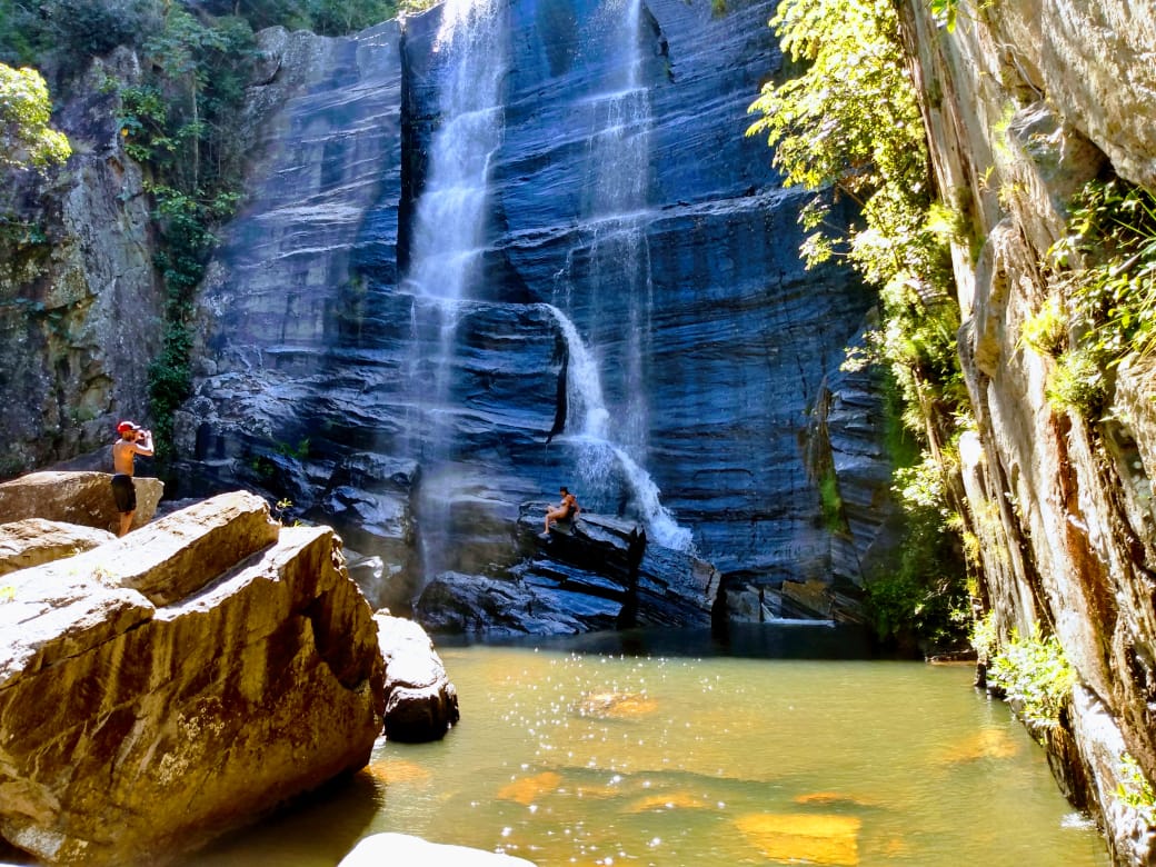
M 391 741 L 436 741 L 457 724 L 458 691 L 425 630 L 412 620 L 378 612 L 385 659 L 385 735 Z

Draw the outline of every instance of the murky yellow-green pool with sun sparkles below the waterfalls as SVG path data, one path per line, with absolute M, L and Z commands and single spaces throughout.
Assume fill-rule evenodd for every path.
M 444 741 L 379 742 L 366 771 L 192 862 L 332 866 L 377 831 L 541 867 L 1110 862 L 968 666 L 440 653 L 462 713 Z

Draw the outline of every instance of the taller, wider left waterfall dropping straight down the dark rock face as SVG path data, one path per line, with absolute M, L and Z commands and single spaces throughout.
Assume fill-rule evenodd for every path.
M 499 0 L 446 0 L 433 46 L 439 125 L 402 280 L 415 296 L 420 357 L 410 365 L 408 393 L 420 395 L 420 417 L 410 420 L 409 430 L 412 452 L 422 459 L 418 520 L 427 579 L 450 563 L 452 503 L 468 486 L 469 469 L 457 462 L 460 407 L 452 391 L 459 318 L 482 276 L 490 166 L 503 140 L 506 29 Z M 423 341 L 422 334 L 429 336 Z

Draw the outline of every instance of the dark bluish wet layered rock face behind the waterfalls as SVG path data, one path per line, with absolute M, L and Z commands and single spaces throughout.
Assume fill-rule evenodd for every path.
M 435 627 L 618 621 L 605 570 L 527 548 L 524 504 L 560 484 L 647 558 L 713 563 L 734 616 L 783 613 L 784 580 L 853 590 L 889 510 L 877 403 L 838 371 L 868 298 L 805 271 L 802 199 L 742 135 L 773 3 L 477 8 L 283 49 L 202 303 L 183 481 L 333 524 L 381 557 L 375 605 L 420 598 Z M 844 413 L 815 438 L 824 401 Z M 825 525 L 816 449 L 879 507 Z M 699 622 L 643 605 L 666 569 L 638 616 Z M 511 581 L 536 588 L 517 616 Z M 798 613 L 830 616 L 824 593 Z

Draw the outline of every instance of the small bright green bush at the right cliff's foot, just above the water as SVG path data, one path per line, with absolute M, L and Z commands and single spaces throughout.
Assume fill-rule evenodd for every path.
M 1076 675 L 1059 639 L 1042 638 L 1037 625 L 1027 638 L 1013 632 L 992 657 L 987 680 L 1003 690 L 1025 722 L 1051 728 L 1059 725 Z

